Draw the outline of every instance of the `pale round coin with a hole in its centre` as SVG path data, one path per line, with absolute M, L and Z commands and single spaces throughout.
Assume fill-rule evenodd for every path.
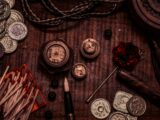
M 107 118 L 110 112 L 110 104 L 103 98 L 96 99 L 91 103 L 91 113 L 97 119 Z

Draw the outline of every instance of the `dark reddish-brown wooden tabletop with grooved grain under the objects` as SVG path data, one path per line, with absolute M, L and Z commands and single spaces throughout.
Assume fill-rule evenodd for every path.
M 62 2 L 62 0 L 61 0 Z M 66 1 L 60 6 L 69 6 Z M 34 4 L 37 13 L 43 17 L 47 17 L 44 14 L 44 9 L 39 4 Z M 22 11 L 20 1 L 16 1 L 15 9 Z M 145 35 L 141 32 L 137 26 L 132 23 L 130 14 L 127 13 L 127 9 L 120 9 L 117 13 L 114 13 L 108 17 L 102 18 L 90 18 L 76 23 L 73 27 L 68 28 L 69 23 L 54 28 L 54 30 L 47 30 L 46 28 L 39 29 L 33 24 L 25 20 L 28 27 L 29 34 L 27 38 L 18 45 L 18 49 L 15 53 L 6 55 L 1 60 L 1 67 L 9 63 L 11 68 L 19 67 L 23 63 L 27 64 L 35 77 L 38 84 L 42 88 L 42 92 L 47 98 L 48 92 L 53 90 L 49 87 L 52 79 L 59 79 L 60 86 L 53 91 L 56 92 L 57 98 L 54 102 L 49 102 L 45 108 L 32 113 L 29 120 L 44 120 L 45 110 L 51 110 L 54 115 L 54 120 L 64 120 L 64 100 L 63 100 L 63 77 L 57 77 L 56 75 L 49 75 L 39 67 L 39 58 L 41 46 L 44 42 L 54 40 L 57 37 L 63 38 L 74 50 L 74 63 L 83 62 L 89 69 L 87 78 L 83 81 L 76 81 L 69 75 L 70 89 L 72 92 L 73 103 L 75 108 L 76 120 L 96 120 L 90 112 L 90 105 L 85 103 L 85 99 L 92 93 L 98 84 L 114 69 L 112 63 L 112 49 L 120 41 L 133 42 L 135 45 L 145 50 L 144 59 L 138 64 L 134 70 L 134 74 L 142 78 L 145 84 L 148 84 L 152 89 L 159 90 L 153 66 L 151 64 L 150 50 L 146 42 Z M 66 29 L 65 29 L 66 28 Z M 104 30 L 111 28 L 113 35 L 111 40 L 106 40 L 103 37 Z M 63 30 L 59 30 L 63 29 Z M 95 61 L 86 61 L 80 56 L 79 48 L 81 42 L 86 38 L 94 38 L 100 42 L 101 54 Z M 2 71 L 1 71 L 2 72 Z M 133 90 L 128 89 L 123 84 L 119 83 L 115 75 L 112 76 L 108 83 L 96 94 L 96 98 L 105 98 L 112 105 L 114 96 L 118 90 L 126 91 L 136 94 Z M 112 111 L 113 108 L 112 108 Z M 146 113 L 138 118 L 138 120 L 159 120 L 160 108 L 147 101 Z

